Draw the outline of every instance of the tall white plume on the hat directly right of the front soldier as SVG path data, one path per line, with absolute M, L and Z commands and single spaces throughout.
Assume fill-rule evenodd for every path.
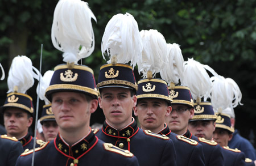
M 131 61 L 131 66 L 136 65 L 141 58 L 142 40 L 138 23 L 131 14 L 117 14 L 109 20 L 102 37 L 101 52 L 104 59 L 105 54 L 109 56 L 107 63 L 116 56 L 117 63 Z

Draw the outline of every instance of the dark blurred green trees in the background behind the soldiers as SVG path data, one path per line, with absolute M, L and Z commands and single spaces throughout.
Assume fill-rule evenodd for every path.
M 0 82 L 0 103 L 6 99 L 7 76 L 11 61 L 17 55 L 30 57 L 39 69 L 43 44 L 42 74 L 63 63 L 61 52 L 51 41 L 53 11 L 57 0 L 0 0 L 0 63 L 6 78 Z M 212 67 L 219 75 L 232 78 L 242 92 L 242 103 L 234 108 L 236 128 L 254 144 L 256 134 L 256 1 L 174 1 L 174 0 L 88 0 L 97 18 L 92 20 L 95 49 L 82 59 L 94 70 L 97 81 L 100 66 L 106 61 L 101 54 L 101 39 L 113 15 L 129 12 L 139 31 L 157 29 L 167 43 L 177 43 L 184 60 L 194 58 Z M 68 12 L 68 11 L 67 11 Z M 136 79 L 141 79 L 134 70 Z M 2 73 L 0 73 L 1 75 Z M 36 108 L 36 86 L 28 90 Z M 39 117 L 44 101 L 40 101 Z M 92 114 L 91 124 L 103 123 L 102 110 Z M 1 114 L 0 124 L 3 124 Z M 34 125 L 33 125 L 34 126 Z M 32 127 L 33 127 L 32 126 Z M 34 131 L 34 129 L 33 129 Z M 255 147 L 255 144 L 254 144 Z

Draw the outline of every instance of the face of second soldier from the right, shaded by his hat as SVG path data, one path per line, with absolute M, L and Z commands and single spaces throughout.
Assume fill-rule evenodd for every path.
M 189 122 L 188 129 L 196 137 L 211 140 L 215 124 L 212 120 L 192 121 Z

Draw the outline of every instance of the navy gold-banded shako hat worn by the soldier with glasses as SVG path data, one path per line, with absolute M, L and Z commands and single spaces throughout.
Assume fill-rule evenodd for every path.
M 190 88 L 186 86 L 169 86 L 169 94 L 172 104 L 185 104 L 190 107 L 194 106 L 193 97 Z

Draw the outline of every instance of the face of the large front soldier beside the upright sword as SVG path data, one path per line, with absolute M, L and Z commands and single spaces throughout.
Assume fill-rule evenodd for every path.
M 52 112 L 61 132 L 86 130 L 90 114 L 98 106 L 98 100 L 86 100 L 82 93 L 56 92 L 52 94 Z

